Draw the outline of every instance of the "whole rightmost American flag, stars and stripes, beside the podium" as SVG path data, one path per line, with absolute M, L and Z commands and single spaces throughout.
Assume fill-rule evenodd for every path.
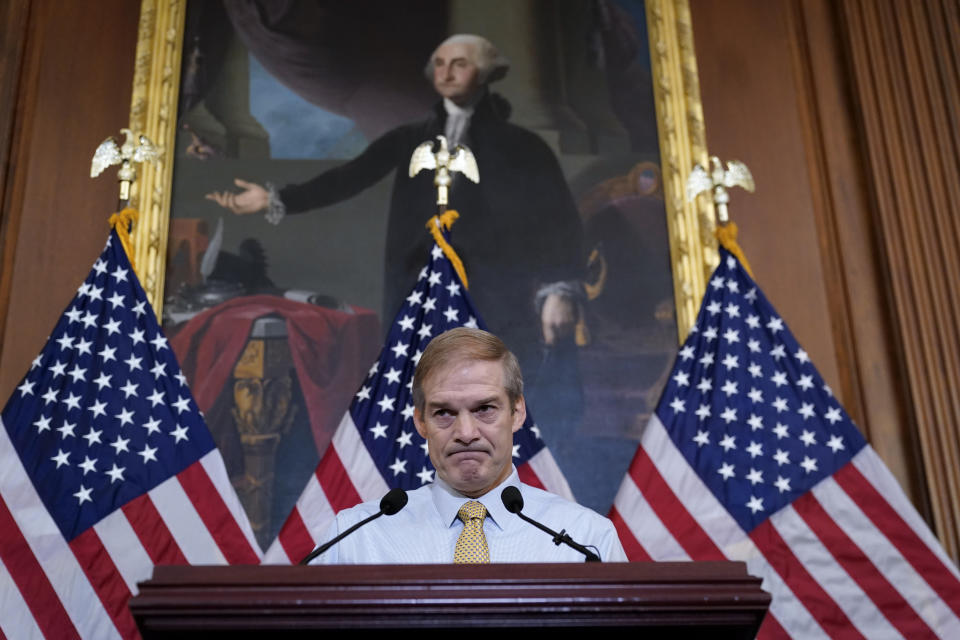
M 726 250 L 611 517 L 631 560 L 743 560 L 760 637 L 960 638 L 960 580 Z

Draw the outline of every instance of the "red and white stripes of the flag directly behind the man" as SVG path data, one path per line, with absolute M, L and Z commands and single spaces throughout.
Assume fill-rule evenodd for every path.
M 563 472 L 546 448 L 519 467 L 517 473 L 529 485 L 573 500 Z M 326 542 L 320 536 L 339 511 L 367 500 L 376 500 L 389 488 L 360 439 L 348 411 L 277 539 L 264 554 L 264 563 L 300 562 L 313 549 Z

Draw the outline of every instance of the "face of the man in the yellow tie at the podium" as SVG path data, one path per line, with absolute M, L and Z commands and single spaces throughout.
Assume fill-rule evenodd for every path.
M 437 474 L 465 496 L 487 493 L 510 475 L 513 434 L 527 416 L 511 406 L 503 365 L 465 360 L 441 367 L 423 385 L 426 405 L 413 414 Z

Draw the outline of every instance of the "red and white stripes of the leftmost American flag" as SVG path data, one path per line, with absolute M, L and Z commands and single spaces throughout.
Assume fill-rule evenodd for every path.
M 256 564 L 219 451 L 67 542 L 0 421 L 0 636 L 135 638 L 127 601 L 157 564 Z

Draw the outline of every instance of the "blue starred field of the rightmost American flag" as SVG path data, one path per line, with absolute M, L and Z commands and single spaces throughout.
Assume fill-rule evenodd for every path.
M 749 532 L 866 442 L 743 266 L 720 255 L 657 415 Z

